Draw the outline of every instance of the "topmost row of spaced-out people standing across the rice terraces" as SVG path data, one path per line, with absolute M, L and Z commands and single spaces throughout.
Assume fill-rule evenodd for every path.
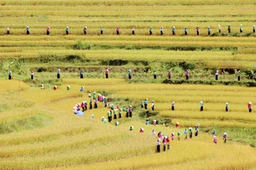
M 172 26 L 172 29 L 171 29 L 171 30 L 172 30 L 172 35 L 175 36 L 175 35 L 176 35 L 176 31 L 177 31 L 176 27 L 175 27 L 175 26 Z M 7 27 L 6 31 L 7 31 L 7 34 L 10 34 L 10 28 L 9 28 L 9 26 Z M 66 31 L 66 34 L 68 35 L 68 34 L 69 34 L 69 28 L 68 28 L 68 26 L 66 27 L 65 31 Z M 86 35 L 86 34 L 87 34 L 87 31 L 88 31 L 87 26 L 84 26 L 83 31 L 84 31 L 84 35 Z M 231 33 L 231 26 L 230 26 L 230 25 L 227 26 L 227 31 L 228 31 L 229 33 Z M 116 27 L 115 32 L 116 32 L 116 35 L 119 35 L 119 34 L 120 34 L 120 28 L 119 28 L 119 26 Z M 188 35 L 188 34 L 189 34 L 189 33 L 188 33 L 188 32 L 189 32 L 189 31 L 188 31 L 188 28 L 187 28 L 187 27 L 184 27 L 183 32 L 184 32 L 184 35 Z M 196 26 L 196 27 L 195 27 L 195 32 L 196 32 L 196 35 L 197 35 L 197 36 L 200 35 L 200 27 L 199 27 L 199 26 Z M 207 32 L 208 32 L 208 35 L 210 36 L 210 35 L 211 35 L 211 27 L 210 27 L 210 26 L 207 27 Z M 221 32 L 222 32 L 221 26 L 218 25 L 218 33 L 221 33 Z M 240 32 L 240 33 L 243 32 L 242 25 L 239 26 L 239 32 Z M 254 33 L 254 32 L 255 32 L 255 25 L 253 25 L 253 33 Z M 26 34 L 30 34 L 30 33 L 31 33 L 31 31 L 30 31 L 29 26 L 26 26 Z M 46 28 L 46 35 L 49 35 L 49 34 L 50 34 L 50 28 L 49 28 L 49 26 L 47 26 L 47 28 Z M 100 28 L 100 34 L 101 34 L 101 35 L 103 34 L 103 26 L 101 26 L 101 28 Z M 132 34 L 132 35 L 135 35 L 135 34 L 136 34 L 136 30 L 135 30 L 135 27 L 134 27 L 134 26 L 131 28 L 131 34 Z M 153 28 L 152 28 L 152 26 L 149 27 L 148 34 L 149 34 L 149 35 L 153 35 Z M 163 27 L 163 26 L 160 27 L 160 35 L 164 35 L 164 27 Z

